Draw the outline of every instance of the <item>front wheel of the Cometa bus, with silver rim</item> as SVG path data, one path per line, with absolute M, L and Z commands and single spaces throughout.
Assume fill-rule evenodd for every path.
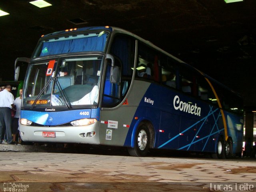
M 144 157 L 148 153 L 150 145 L 150 134 L 146 124 L 142 123 L 139 125 L 135 135 L 134 148 L 129 147 L 128 152 L 130 156 Z

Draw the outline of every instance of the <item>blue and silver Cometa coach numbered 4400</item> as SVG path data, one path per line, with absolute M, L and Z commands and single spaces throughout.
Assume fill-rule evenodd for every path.
M 24 82 L 24 142 L 242 151 L 241 97 L 154 44 L 115 27 L 44 35 Z

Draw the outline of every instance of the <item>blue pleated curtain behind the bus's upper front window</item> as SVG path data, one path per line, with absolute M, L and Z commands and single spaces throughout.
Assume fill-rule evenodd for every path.
M 65 41 L 43 42 L 40 56 L 54 54 L 104 51 L 107 34 Z

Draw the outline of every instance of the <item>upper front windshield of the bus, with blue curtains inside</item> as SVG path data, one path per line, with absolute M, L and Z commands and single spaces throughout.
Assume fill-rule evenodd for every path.
M 107 38 L 106 31 L 44 38 L 39 42 L 33 57 L 74 52 L 103 52 Z

